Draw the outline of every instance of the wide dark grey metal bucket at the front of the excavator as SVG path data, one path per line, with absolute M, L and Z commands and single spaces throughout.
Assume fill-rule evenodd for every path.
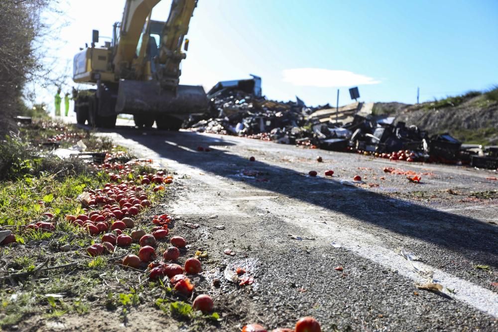
M 207 109 L 208 99 L 201 86 L 179 85 L 175 94 L 163 90 L 156 81 L 121 80 L 119 84 L 118 113 L 161 113 L 186 117 Z

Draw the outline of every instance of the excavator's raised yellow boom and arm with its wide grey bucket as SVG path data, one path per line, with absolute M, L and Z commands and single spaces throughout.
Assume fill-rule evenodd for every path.
M 168 113 L 186 115 L 207 110 L 208 100 L 201 86 L 181 86 L 181 51 L 197 0 L 172 0 L 171 10 L 160 35 L 159 55 L 154 57 L 152 80 L 146 80 L 143 49 L 136 47 L 150 22 L 150 12 L 160 0 L 126 0 L 120 39 L 113 64 L 120 79 L 116 111 L 118 113 Z M 144 30 L 145 24 L 145 30 Z M 145 36 L 148 40 L 148 36 Z M 143 39 L 143 38 L 142 38 Z M 142 46 L 147 44 L 142 40 Z

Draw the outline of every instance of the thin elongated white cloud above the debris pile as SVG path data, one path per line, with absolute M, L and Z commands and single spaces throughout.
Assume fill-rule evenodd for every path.
M 379 84 L 380 81 L 347 70 L 321 68 L 294 68 L 282 71 L 283 81 L 302 87 L 351 87 L 357 85 Z

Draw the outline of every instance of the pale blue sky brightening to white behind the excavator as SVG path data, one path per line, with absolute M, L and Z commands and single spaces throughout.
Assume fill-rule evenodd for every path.
M 152 18 L 165 20 L 170 3 Z M 51 50 L 58 70 L 93 28 L 111 35 L 123 7 L 124 0 L 62 3 L 69 25 Z M 188 38 L 181 83 L 206 90 L 251 73 L 270 99 L 335 105 L 339 88 L 347 104 L 348 88 L 358 85 L 362 101 L 412 104 L 417 87 L 427 101 L 498 84 L 495 0 L 200 0 Z

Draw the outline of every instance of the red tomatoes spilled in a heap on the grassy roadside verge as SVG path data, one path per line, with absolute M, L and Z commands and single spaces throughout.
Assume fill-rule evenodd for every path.
M 106 170 L 112 168 L 112 165 L 103 167 Z M 127 172 L 127 170 L 130 168 L 123 167 L 120 172 Z M 113 174 L 109 172 L 112 179 Z M 200 273 L 202 264 L 197 256 L 188 258 L 183 266 L 178 264 L 180 249 L 185 248 L 186 240 L 181 236 L 172 236 L 169 239 L 170 246 L 163 253 L 156 252 L 158 242 L 167 240 L 171 217 L 167 214 L 153 216 L 148 232 L 134 228 L 133 218 L 142 209 L 151 206 L 144 187 L 172 183 L 173 178 L 159 171 L 155 174 L 144 175 L 139 180 L 141 186 L 133 181 L 114 179 L 119 183 L 107 183 L 103 189 L 88 191 L 85 213 L 78 216 L 67 215 L 66 221 L 83 227 L 90 235 L 100 237 L 98 243 L 87 248 L 90 256 L 112 254 L 115 246 L 128 248 L 133 243 L 139 244 L 138 255 L 129 253 L 124 257 L 122 265 L 128 268 L 146 269 L 150 280 L 169 283 L 178 294 L 190 296 L 194 285 L 187 275 Z M 162 259 L 157 259 L 158 256 Z M 208 313 L 213 310 L 213 301 L 208 295 L 199 295 L 194 300 L 193 307 Z

